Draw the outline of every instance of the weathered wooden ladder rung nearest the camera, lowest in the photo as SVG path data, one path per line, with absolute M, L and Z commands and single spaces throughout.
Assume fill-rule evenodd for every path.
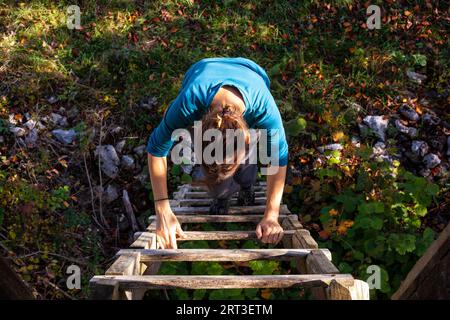
M 353 284 L 348 274 L 337 275 L 252 275 L 252 276 L 95 276 L 92 283 L 117 281 L 123 290 L 145 289 L 233 289 L 233 288 L 291 288 L 328 286 L 333 280 Z

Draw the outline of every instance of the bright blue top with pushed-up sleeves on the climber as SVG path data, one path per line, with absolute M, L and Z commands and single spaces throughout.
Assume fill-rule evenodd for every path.
M 147 152 L 156 157 L 167 156 L 174 143 L 172 132 L 201 120 L 224 85 L 240 91 L 248 127 L 267 129 L 268 143 L 278 143 L 278 165 L 287 165 L 286 135 L 280 111 L 270 93 L 269 77 L 259 65 L 245 58 L 207 58 L 193 64 L 184 76 L 180 93 L 150 135 Z M 272 139 L 275 133 L 278 138 Z

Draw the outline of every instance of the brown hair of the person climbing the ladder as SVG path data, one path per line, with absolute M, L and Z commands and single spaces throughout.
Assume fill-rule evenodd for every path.
M 222 133 L 223 139 L 223 155 L 226 154 L 227 147 L 232 147 L 234 150 L 234 159 L 232 163 L 216 163 L 206 164 L 202 161 L 203 171 L 205 172 L 205 179 L 200 183 L 206 184 L 211 189 L 214 185 L 234 175 L 239 167 L 239 164 L 244 154 L 238 154 L 235 146 L 238 144 L 237 136 L 233 135 L 233 139 L 227 139 L 227 130 L 242 130 L 245 135 L 245 143 L 249 144 L 249 133 L 247 123 L 242 115 L 236 113 L 236 108 L 232 105 L 225 105 L 222 109 L 218 108 L 210 110 L 203 116 L 202 119 L 202 134 L 208 129 L 217 129 Z M 203 141 L 203 139 L 202 139 Z M 210 144 L 209 141 L 202 142 L 202 150 Z

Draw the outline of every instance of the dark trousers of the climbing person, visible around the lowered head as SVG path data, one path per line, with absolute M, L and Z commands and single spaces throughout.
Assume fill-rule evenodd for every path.
M 208 190 L 209 196 L 214 199 L 229 199 L 233 194 L 238 192 L 241 188 L 245 189 L 254 185 L 258 174 L 258 165 L 256 164 L 241 164 L 234 176 L 225 179 L 221 183 L 215 185 Z M 197 165 L 192 173 L 194 181 L 200 180 L 204 177 L 201 166 Z

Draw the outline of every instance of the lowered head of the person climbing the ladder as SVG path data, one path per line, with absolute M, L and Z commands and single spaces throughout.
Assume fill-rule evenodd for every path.
M 244 145 L 248 145 L 250 135 L 242 114 L 237 112 L 235 106 L 229 104 L 211 108 L 203 117 L 202 135 L 209 129 L 215 129 L 217 133 L 220 133 L 219 137 L 222 139 L 223 146 L 223 159 L 212 163 L 202 161 L 202 167 L 206 174 L 203 182 L 208 186 L 213 186 L 234 175 L 245 157 L 245 148 L 242 148 L 242 141 Z M 205 150 L 212 142 L 202 140 L 202 150 Z M 214 150 L 211 155 L 217 158 Z

